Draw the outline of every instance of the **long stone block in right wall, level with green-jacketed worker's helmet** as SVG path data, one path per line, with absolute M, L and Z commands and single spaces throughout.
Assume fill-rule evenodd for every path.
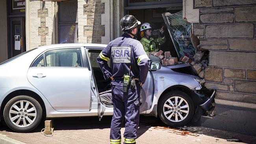
M 254 38 L 254 24 L 207 25 L 205 27 L 205 38 Z

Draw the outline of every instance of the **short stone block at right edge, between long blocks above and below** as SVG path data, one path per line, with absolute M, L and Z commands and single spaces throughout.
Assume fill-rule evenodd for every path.
M 230 39 L 229 40 L 230 50 L 256 50 L 256 40 L 247 39 Z

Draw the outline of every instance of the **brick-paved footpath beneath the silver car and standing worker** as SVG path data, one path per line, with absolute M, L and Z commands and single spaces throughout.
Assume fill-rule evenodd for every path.
M 137 132 L 137 144 L 240 144 L 256 143 L 256 137 L 231 133 L 208 127 L 166 127 L 154 117 L 141 116 Z M 104 116 L 99 122 L 93 118 L 55 119 L 54 135 L 41 134 L 42 122 L 30 133 L 16 133 L 6 126 L 0 127 L 0 144 L 109 144 L 111 116 Z M 124 133 L 124 127 L 121 129 Z M 228 142 L 227 139 L 239 139 L 241 142 Z M 122 138 L 122 142 L 124 138 Z

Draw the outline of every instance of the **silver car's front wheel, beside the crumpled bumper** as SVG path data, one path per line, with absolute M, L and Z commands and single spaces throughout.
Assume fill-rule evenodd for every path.
M 193 117 L 194 103 L 185 92 L 171 91 L 158 103 L 158 116 L 169 126 L 184 126 Z

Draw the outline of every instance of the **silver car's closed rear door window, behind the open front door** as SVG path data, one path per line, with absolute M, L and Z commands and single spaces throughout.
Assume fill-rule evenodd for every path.
M 46 66 L 82 67 L 81 48 L 50 50 L 45 53 Z

